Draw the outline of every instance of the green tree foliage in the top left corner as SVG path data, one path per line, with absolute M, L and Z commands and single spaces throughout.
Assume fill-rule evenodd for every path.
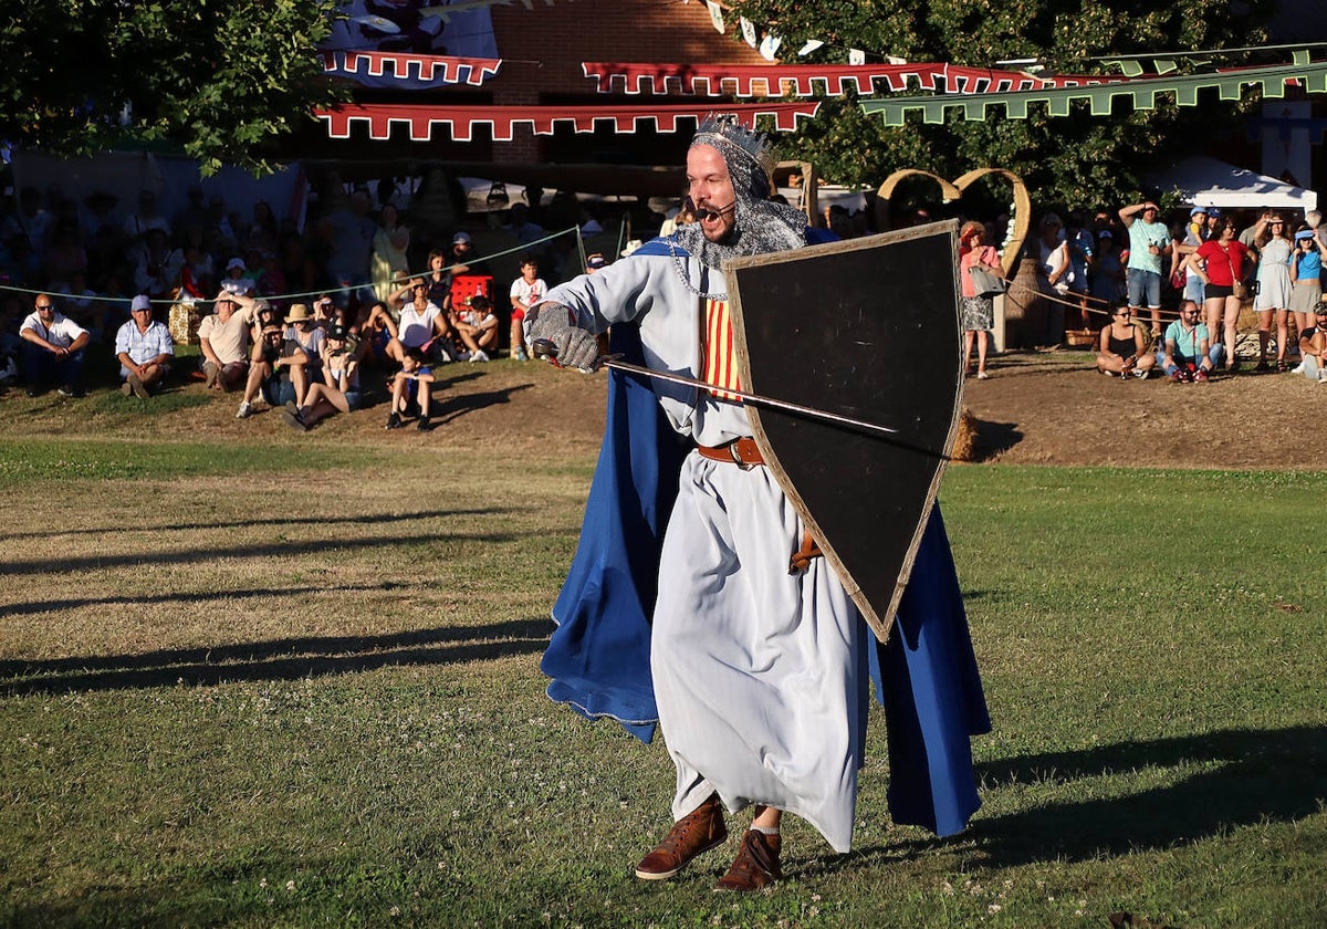
M 57 154 L 167 142 L 255 171 L 344 98 L 314 46 L 334 0 L 24 0 L 0 19 L 0 139 Z

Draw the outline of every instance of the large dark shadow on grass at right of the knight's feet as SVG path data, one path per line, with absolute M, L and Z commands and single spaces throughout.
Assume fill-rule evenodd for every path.
M 1085 782 L 1144 768 L 1201 768 L 1168 787 L 1128 796 L 1047 803 L 978 818 L 949 840 L 872 845 L 811 865 L 833 872 L 886 865 L 963 845 L 991 868 L 1044 861 L 1089 861 L 1139 849 L 1170 848 L 1261 823 L 1292 823 L 1327 804 L 1327 726 L 1231 729 L 1153 742 L 1121 742 L 1091 751 L 1034 755 L 977 766 L 983 790 L 1047 783 L 1101 792 Z

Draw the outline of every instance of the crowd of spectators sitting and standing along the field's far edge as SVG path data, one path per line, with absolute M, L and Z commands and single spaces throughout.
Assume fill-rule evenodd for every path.
M 503 349 L 525 360 L 525 308 L 549 284 L 606 263 L 596 253 L 583 267 L 571 259 L 575 239 L 545 231 L 567 222 L 600 234 L 594 212 L 569 199 L 543 215 L 537 191 L 533 206 L 504 203 L 487 219 L 519 250 L 519 261 L 514 255 L 503 268 L 476 253 L 471 235 L 480 230 L 413 230 L 410 204 L 381 191 L 340 186 L 321 203 L 300 228 L 265 202 L 242 215 L 202 187 L 191 187 L 173 216 L 153 191 L 122 212 L 105 194 L 80 203 L 56 190 L 20 190 L 0 212 L 0 378 L 20 376 L 33 395 L 78 395 L 89 352 L 102 350 L 102 368 L 118 370 L 126 397 L 150 397 L 174 372 L 242 394 L 239 418 L 268 405 L 307 429 L 357 409 L 377 389 L 390 398 L 389 427 L 414 418 L 427 430 L 438 365 L 486 362 Z M 1099 370 L 1127 378 L 1161 370 L 1202 380 L 1245 362 L 1318 378 L 1322 218 L 1185 212 L 1166 223 L 1144 199 L 1070 211 L 1067 220 L 1043 214 L 1023 246 L 1051 308 L 1043 341 L 1092 332 Z M 686 214 L 654 219 L 666 230 Z M 929 219 L 917 210 L 906 224 Z M 819 224 L 853 238 L 876 223 L 835 206 Z M 961 232 L 963 332 L 978 378 L 989 377 L 993 295 L 977 289 L 970 272 L 1001 273 L 999 250 L 1014 247 L 1007 228 L 1009 216 L 997 216 L 969 220 Z M 1237 350 L 1250 299 L 1255 332 L 1243 334 L 1257 334 L 1254 357 Z M 198 344 L 196 370 L 192 358 L 176 362 L 182 340 Z

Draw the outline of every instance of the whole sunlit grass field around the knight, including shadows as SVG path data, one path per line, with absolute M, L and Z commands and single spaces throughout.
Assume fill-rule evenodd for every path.
M 788 880 L 734 898 L 733 840 L 630 876 L 665 749 L 543 695 L 594 449 L 496 479 L 442 443 L 23 433 L 0 924 L 1327 921 L 1327 475 L 951 468 L 983 808 L 945 841 L 890 825 L 877 714 L 856 849 L 791 823 Z

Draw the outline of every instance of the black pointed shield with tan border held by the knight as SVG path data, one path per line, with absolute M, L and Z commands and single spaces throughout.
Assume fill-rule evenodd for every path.
M 768 467 L 881 641 L 958 427 L 957 230 L 930 223 L 725 264 L 744 390 L 898 430 L 747 406 Z

